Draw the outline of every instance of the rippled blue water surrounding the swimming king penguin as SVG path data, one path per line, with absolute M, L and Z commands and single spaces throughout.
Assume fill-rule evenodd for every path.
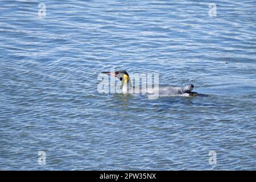
M 0 1 L 0 169 L 255 170 L 256 2 L 212 2 Z M 208 97 L 98 93 L 113 68 Z

